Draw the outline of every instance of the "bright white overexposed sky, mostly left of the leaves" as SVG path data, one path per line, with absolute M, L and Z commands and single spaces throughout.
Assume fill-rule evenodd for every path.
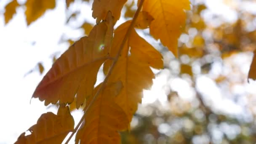
M 10 0 L 0 0 L 0 13 L 4 12 L 4 5 L 8 1 Z M 25 0 L 18 1 L 24 2 Z M 43 17 L 29 27 L 27 27 L 25 22 L 23 8 L 17 9 L 17 14 L 6 26 L 4 25 L 3 15 L 0 15 L 0 48 L 2 50 L 0 53 L 0 101 L 2 101 L 0 105 L 0 112 L 2 114 L 0 144 L 15 142 L 22 132 L 37 122 L 41 114 L 47 111 L 56 113 L 56 109 L 46 109 L 38 99 L 32 99 L 31 104 L 29 104 L 29 101 L 35 87 L 43 78 L 45 72 L 51 67 L 51 56 L 53 53 L 62 53 L 68 47 L 67 43 L 59 43 L 61 35 L 65 34 L 74 38 L 83 35 L 82 30 L 74 30 L 65 25 L 64 0 L 57 0 L 57 2 L 54 10 L 45 13 Z M 219 7 L 219 3 L 221 3 L 221 0 L 208 0 L 207 4 L 211 5 L 212 9 L 223 8 L 227 13 L 232 13 L 229 12 L 229 8 Z M 81 6 L 71 7 L 75 10 L 76 7 Z M 81 15 L 89 17 L 87 20 L 94 22 L 91 14 L 88 13 L 91 13 L 91 8 L 83 6 Z M 219 13 L 219 10 L 216 13 Z M 230 19 L 232 20 L 233 18 L 231 17 Z M 80 19 L 79 21 L 83 22 L 83 20 Z M 24 77 L 29 70 L 35 68 L 39 61 L 43 61 L 46 69 L 44 74 L 40 75 L 35 71 Z M 248 68 L 249 64 L 246 69 Z M 210 78 L 203 76 L 198 79 L 202 83 L 199 83 L 199 85 L 203 85 L 203 83 L 210 84 L 205 89 L 211 90 L 214 93 L 212 98 L 217 98 L 214 103 L 218 104 L 219 101 L 223 100 L 221 93 L 214 89 L 216 85 L 213 84 Z M 156 99 L 165 103 L 166 95 L 163 90 L 165 83 L 170 83 L 171 87 L 178 91 L 182 98 L 191 99 L 191 96 L 189 96 L 189 92 L 191 92 L 189 83 L 179 78 L 168 81 L 166 75 L 160 75 L 154 80 L 152 90 L 145 91 L 145 98 L 142 103 L 152 103 Z M 228 99 L 222 101 L 222 103 L 221 106 L 226 105 L 229 108 L 234 106 L 233 108 L 237 109 L 237 112 L 243 112 L 240 107 L 237 107 Z M 222 109 L 227 109 L 227 107 L 222 107 Z M 79 114 L 79 112 L 76 113 Z M 75 115 L 75 119 L 77 121 L 79 115 Z

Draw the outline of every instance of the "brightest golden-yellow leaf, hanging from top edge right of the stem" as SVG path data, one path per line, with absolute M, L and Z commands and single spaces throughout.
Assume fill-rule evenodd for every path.
M 178 38 L 185 25 L 189 10 L 189 0 L 145 0 L 143 11 L 147 11 L 155 19 L 149 26 L 150 34 L 160 39 L 163 45 L 177 56 Z

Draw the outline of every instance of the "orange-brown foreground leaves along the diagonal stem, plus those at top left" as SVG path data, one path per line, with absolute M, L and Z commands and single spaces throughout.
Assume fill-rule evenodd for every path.
M 66 0 L 67 7 L 73 0 Z M 57 115 L 43 114 L 30 135 L 22 133 L 16 143 L 60 143 L 69 132 L 77 131 L 78 143 L 120 143 L 119 131 L 129 129 L 133 114 L 141 102 L 143 89 L 155 78 L 150 67 L 163 68 L 161 54 L 136 29 L 149 27 L 150 34 L 178 56 L 177 40 L 185 25 L 189 0 L 139 0 L 132 20 L 114 30 L 126 0 L 94 0 L 92 16 L 96 25 L 55 61 L 39 83 L 33 98 L 45 105 L 60 105 Z M 31 24 L 55 7 L 55 0 L 27 0 L 27 24 Z M 5 23 L 21 6 L 16 0 L 5 7 Z M 106 78 L 94 86 L 100 66 L 104 64 Z M 74 120 L 67 105 L 84 115 L 74 129 Z

